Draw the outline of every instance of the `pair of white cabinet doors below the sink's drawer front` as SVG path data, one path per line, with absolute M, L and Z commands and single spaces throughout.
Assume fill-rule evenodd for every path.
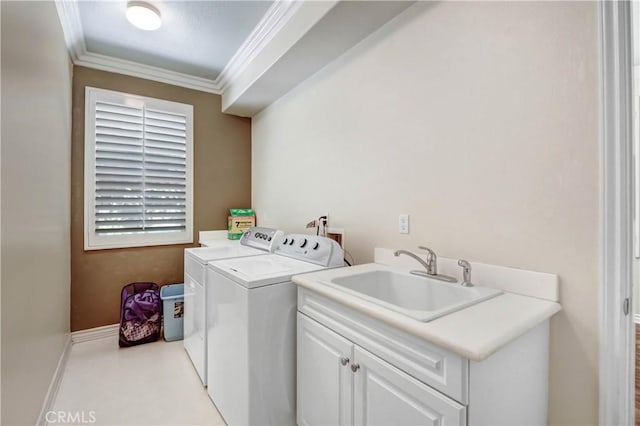
M 298 313 L 298 424 L 465 421 L 463 405 Z

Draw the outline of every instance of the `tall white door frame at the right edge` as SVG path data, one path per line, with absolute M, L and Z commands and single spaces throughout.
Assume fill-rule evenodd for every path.
M 631 2 L 599 2 L 600 424 L 634 424 Z M 625 313 L 626 306 L 626 313 Z

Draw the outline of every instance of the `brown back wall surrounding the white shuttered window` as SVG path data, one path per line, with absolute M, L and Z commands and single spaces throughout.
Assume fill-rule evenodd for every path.
M 86 86 L 194 106 L 194 241 L 224 229 L 229 208 L 251 202 L 251 120 L 220 112 L 220 96 L 74 67 L 71 172 L 71 330 L 119 321 L 120 289 L 133 281 L 183 281 L 185 245 L 83 250 L 84 96 Z

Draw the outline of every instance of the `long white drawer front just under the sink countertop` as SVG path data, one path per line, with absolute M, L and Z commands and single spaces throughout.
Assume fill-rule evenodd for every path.
M 298 310 L 410 376 L 468 403 L 466 358 L 305 288 L 298 288 Z

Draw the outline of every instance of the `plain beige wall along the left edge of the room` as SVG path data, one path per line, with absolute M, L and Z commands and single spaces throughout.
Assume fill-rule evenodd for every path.
M 72 68 L 53 2 L 1 3 L 2 424 L 35 424 L 69 336 Z

